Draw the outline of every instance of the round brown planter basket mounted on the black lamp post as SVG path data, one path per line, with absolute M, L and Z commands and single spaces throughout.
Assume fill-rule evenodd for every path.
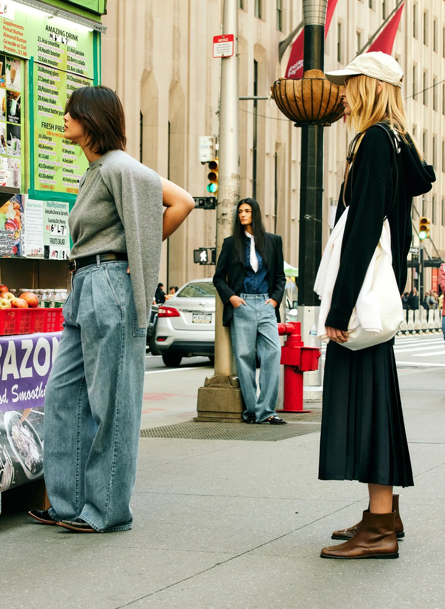
M 281 78 L 270 88 L 276 105 L 295 127 L 329 127 L 345 113 L 340 91 L 321 70 L 307 70 L 302 79 Z

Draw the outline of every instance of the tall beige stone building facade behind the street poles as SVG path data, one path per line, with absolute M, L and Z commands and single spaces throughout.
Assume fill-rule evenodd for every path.
M 351 61 L 395 5 L 395 0 L 338 0 L 325 69 Z M 222 0 L 108 0 L 107 10 L 102 82 L 124 104 L 128 152 L 192 195 L 206 195 L 208 166 L 199 161 L 198 138 L 219 130 L 220 60 L 212 58 L 211 44 L 221 31 Z M 405 74 L 410 124 L 436 169 L 433 191 L 415 206 L 432 220 L 440 255 L 445 254 L 444 12 L 443 0 L 407 0 L 393 47 Z M 239 0 L 240 96 L 267 96 L 284 76 L 290 48 L 280 64 L 278 44 L 301 19 L 296 0 Z M 349 139 L 342 120 L 324 130 L 324 242 Z M 240 102 L 240 160 L 242 197 L 255 195 L 266 229 L 282 235 L 286 261 L 298 267 L 300 130 L 273 100 Z M 413 218 L 417 226 L 416 211 Z M 193 250 L 214 247 L 215 220 L 215 211 L 192 212 L 163 246 L 160 281 L 180 286 L 212 275 L 214 267 L 194 264 Z M 437 255 L 431 242 L 426 249 Z M 429 270 L 426 287 L 431 281 Z

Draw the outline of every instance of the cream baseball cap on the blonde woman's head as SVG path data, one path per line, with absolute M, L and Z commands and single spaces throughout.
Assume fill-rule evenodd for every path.
M 394 57 L 382 53 L 382 51 L 371 51 L 370 53 L 357 55 L 351 63 L 348 63 L 346 68 L 324 72 L 324 76 L 326 76 L 329 82 L 338 86 L 345 84 L 346 77 L 358 76 L 359 74 L 383 80 L 383 82 L 388 82 L 390 85 L 402 86 L 402 68 Z

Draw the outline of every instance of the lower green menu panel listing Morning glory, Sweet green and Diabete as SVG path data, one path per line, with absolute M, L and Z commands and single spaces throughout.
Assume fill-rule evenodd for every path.
M 79 144 L 63 136 L 66 100 L 92 80 L 58 69 L 33 65 L 33 160 L 36 190 L 77 194 L 88 161 Z

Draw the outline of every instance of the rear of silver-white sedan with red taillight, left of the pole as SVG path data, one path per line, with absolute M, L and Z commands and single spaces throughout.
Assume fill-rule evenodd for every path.
M 159 306 L 156 347 L 164 364 L 180 365 L 183 357 L 206 356 L 214 362 L 215 286 L 212 280 L 189 281 Z

